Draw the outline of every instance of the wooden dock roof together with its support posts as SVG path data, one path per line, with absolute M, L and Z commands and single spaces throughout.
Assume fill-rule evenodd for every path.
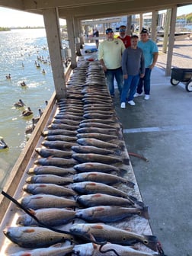
M 0 6 L 19 11 L 42 14 L 46 37 L 52 62 L 56 98 L 66 97 L 66 78 L 62 63 L 62 43 L 59 18 L 66 19 L 69 48 L 72 53 L 71 66 L 75 68 L 77 55 L 81 54 L 83 44 L 82 21 L 88 19 L 112 18 L 129 14 L 142 14 L 152 11 L 152 39 L 155 38 L 156 15 L 160 10 L 171 9 L 170 36 L 168 41 L 168 60 L 166 75 L 171 72 L 171 58 L 174 46 L 174 28 L 177 8 L 190 5 L 190 0 L 2 0 Z M 63 86 L 64 85 L 64 86 Z

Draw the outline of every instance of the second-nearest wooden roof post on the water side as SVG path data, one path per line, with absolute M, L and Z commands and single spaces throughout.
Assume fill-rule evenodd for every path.
M 72 66 L 72 69 L 75 69 L 75 67 L 77 66 L 77 60 L 76 60 L 76 50 L 75 50 L 74 23 L 73 23 L 72 15 L 66 16 L 66 24 L 67 24 L 67 32 L 68 32 L 68 39 L 69 39 L 69 48 L 71 49 L 71 52 L 72 52 L 71 66 Z

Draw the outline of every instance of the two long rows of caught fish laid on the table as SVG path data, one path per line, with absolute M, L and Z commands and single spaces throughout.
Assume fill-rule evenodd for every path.
M 4 230 L 19 246 L 8 255 L 157 255 L 154 235 L 123 229 L 149 213 L 127 177 L 122 127 L 97 61 L 74 69 L 42 136 L 18 200 L 32 216 Z

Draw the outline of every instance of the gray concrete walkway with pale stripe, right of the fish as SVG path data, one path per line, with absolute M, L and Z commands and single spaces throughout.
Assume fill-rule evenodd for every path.
M 128 152 L 152 232 L 168 256 L 192 255 L 192 93 L 170 84 L 162 69 L 152 71 L 151 98 L 135 98 L 136 106 L 120 109 Z

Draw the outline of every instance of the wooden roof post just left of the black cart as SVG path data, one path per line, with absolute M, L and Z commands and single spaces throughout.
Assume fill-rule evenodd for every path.
M 170 34 L 168 40 L 168 57 L 167 57 L 167 66 L 165 70 L 165 75 L 171 75 L 171 62 L 173 56 L 173 48 L 174 48 L 174 31 L 175 31 L 175 24 L 177 18 L 177 5 L 174 5 L 171 8 L 171 24 L 170 24 Z

